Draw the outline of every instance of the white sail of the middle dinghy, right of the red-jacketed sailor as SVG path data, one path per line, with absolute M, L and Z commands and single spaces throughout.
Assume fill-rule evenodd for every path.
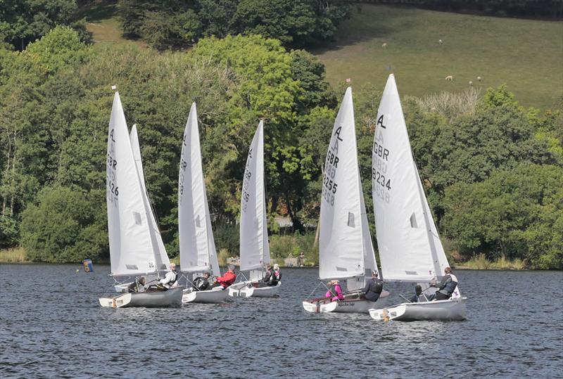
M 241 195 L 241 271 L 260 269 L 270 263 L 264 188 L 264 124 L 248 150 Z

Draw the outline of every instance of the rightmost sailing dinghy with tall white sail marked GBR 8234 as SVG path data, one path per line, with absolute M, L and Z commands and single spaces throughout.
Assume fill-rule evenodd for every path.
M 448 259 L 430 212 L 412 155 L 393 74 L 377 113 L 372 150 L 372 187 L 381 270 L 386 281 L 420 283 L 428 288 L 443 275 Z M 434 288 L 428 288 L 429 292 Z M 456 288 L 450 300 L 406 302 L 369 309 L 376 320 L 462 320 L 465 300 Z

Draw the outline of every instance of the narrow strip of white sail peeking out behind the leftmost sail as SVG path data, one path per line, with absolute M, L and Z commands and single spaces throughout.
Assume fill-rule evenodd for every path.
M 139 181 L 141 182 L 141 187 L 143 189 L 143 200 L 146 203 L 146 208 L 149 210 L 148 222 L 151 229 L 151 235 L 156 240 L 156 263 L 157 266 L 160 267 L 159 271 L 165 271 L 167 267 L 170 266 L 170 259 L 168 259 L 168 255 L 166 254 L 166 248 L 164 247 L 163 238 L 162 236 L 160 236 L 160 229 L 158 229 L 158 224 L 156 223 L 154 212 L 152 211 L 151 202 L 148 198 L 148 191 L 146 190 L 145 174 L 143 169 L 143 162 L 141 160 L 141 148 L 139 147 L 139 136 L 137 135 L 136 124 L 133 124 L 133 127 L 131 128 L 129 141 L 131 142 L 135 166 L 137 167 Z

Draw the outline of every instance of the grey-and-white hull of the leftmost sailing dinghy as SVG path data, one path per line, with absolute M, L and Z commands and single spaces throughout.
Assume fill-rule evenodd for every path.
M 114 297 L 100 297 L 102 307 L 178 307 L 182 305 L 183 287 L 170 288 L 166 291 L 125 293 Z

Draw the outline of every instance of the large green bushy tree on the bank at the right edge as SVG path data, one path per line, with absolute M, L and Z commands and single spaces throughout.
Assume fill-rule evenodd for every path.
M 444 200 L 446 235 L 466 257 L 484 252 L 489 259 L 561 268 L 562 180 L 562 167 L 522 163 L 481 183 L 454 184 Z

